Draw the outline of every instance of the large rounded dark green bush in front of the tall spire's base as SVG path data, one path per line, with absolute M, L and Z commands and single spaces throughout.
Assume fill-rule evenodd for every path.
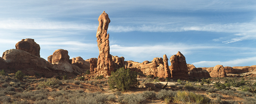
M 138 87 L 140 82 L 137 80 L 137 73 L 129 68 L 120 68 L 116 72 L 112 71 L 108 80 L 110 89 L 118 89 L 121 91 L 129 90 L 131 87 Z

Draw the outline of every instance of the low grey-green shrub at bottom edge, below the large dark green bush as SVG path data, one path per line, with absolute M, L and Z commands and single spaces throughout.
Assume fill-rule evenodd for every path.
M 125 104 L 141 104 L 145 100 L 145 97 L 141 94 L 125 94 L 118 97 L 118 102 Z

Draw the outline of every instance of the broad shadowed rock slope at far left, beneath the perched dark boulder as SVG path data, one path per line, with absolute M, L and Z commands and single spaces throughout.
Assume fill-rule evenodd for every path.
M 35 73 L 51 73 L 53 65 L 44 58 L 31 55 L 21 49 L 10 49 L 3 53 L 2 58 L 7 62 L 8 69 L 24 70 L 29 75 Z M 47 76 L 47 75 L 46 75 Z

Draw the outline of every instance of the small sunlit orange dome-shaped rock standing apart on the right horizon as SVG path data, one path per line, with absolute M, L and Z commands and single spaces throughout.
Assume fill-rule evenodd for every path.
M 222 65 L 216 65 L 210 72 L 211 77 L 227 77 L 225 68 Z

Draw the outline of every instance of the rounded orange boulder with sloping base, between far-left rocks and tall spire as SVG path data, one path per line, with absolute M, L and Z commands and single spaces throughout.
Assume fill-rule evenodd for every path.
M 52 59 L 49 59 L 51 57 Z M 53 52 L 53 55 L 50 55 L 48 57 L 48 61 L 52 62 L 52 64 L 54 65 L 53 66 L 54 69 L 62 70 L 70 73 L 72 72 L 79 73 L 79 74 L 83 73 L 83 71 L 78 66 L 70 64 L 67 50 L 57 49 L 56 51 Z

